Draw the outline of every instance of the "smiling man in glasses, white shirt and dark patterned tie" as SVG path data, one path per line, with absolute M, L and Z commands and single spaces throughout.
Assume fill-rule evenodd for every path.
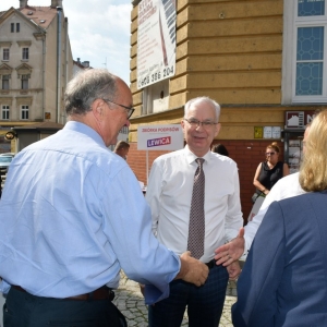
M 170 282 L 170 296 L 149 306 L 150 327 L 180 326 L 186 306 L 190 326 L 219 325 L 229 272 L 226 267 L 216 265 L 215 249 L 235 238 L 243 225 L 237 164 L 210 152 L 213 140 L 220 130 L 219 105 L 201 97 L 190 100 L 184 110 L 181 124 L 187 145 L 155 160 L 146 199 L 152 208 L 153 231 L 159 242 L 177 254 L 192 249 L 189 222 L 193 183 L 197 178 L 195 173 L 203 169 L 205 231 L 203 252 L 198 258 L 210 270 L 201 288 L 187 282 Z M 203 168 L 195 161 L 198 158 L 204 159 Z M 196 220 L 199 217 L 197 215 Z M 194 253 L 192 250 L 191 254 Z M 235 267 L 230 269 L 231 277 L 239 272 Z

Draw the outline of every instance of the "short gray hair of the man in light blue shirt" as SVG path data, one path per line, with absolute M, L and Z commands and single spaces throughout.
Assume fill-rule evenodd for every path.
M 64 108 L 68 116 L 85 114 L 96 99 L 116 99 L 117 76 L 105 69 L 88 69 L 71 80 L 64 93 Z

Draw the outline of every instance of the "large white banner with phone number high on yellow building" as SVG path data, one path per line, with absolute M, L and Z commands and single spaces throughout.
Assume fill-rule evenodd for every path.
M 138 3 L 138 89 L 175 74 L 175 0 Z

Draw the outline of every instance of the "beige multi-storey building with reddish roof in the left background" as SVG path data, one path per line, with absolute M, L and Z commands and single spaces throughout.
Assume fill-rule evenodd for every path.
M 20 0 L 20 8 L 0 13 L 2 135 L 13 126 L 37 122 L 63 124 L 63 93 L 72 75 L 62 0 L 49 0 L 48 7 L 31 7 L 27 0 Z M 13 152 L 20 149 L 14 147 Z

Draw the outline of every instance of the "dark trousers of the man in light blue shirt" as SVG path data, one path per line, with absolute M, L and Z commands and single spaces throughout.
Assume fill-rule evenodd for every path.
M 11 288 L 3 327 L 120 327 L 120 312 L 109 300 L 60 300 Z

